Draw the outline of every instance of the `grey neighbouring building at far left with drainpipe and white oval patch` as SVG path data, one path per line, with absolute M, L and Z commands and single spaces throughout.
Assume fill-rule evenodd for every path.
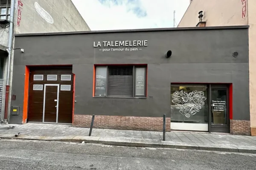
M 13 30 L 15 34 L 90 30 L 71 0 L 13 1 L 15 6 Z M 1 113 L 5 112 L 5 107 L 2 105 L 5 104 L 8 65 L 6 48 L 8 48 L 9 43 L 10 15 L 11 0 L 0 0 L 0 120 L 4 119 Z M 15 51 L 20 51 L 20 49 L 15 49 Z M 10 91 L 12 91 L 12 61 L 13 55 L 11 56 L 10 67 Z M 9 106 L 10 98 L 11 93 Z

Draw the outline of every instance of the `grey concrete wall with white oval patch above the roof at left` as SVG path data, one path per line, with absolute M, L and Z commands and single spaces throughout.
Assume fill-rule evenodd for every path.
M 90 30 L 72 0 L 17 0 L 15 6 L 15 34 Z

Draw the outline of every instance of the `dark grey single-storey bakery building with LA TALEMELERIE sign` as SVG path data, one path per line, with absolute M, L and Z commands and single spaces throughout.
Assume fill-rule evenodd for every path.
M 16 34 L 15 48 L 11 123 L 95 114 L 94 127 L 160 131 L 166 114 L 168 131 L 229 133 L 250 120 L 248 26 Z

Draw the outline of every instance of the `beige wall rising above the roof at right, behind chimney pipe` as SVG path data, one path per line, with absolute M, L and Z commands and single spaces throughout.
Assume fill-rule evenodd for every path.
M 248 14 L 246 10 L 242 15 L 243 6 L 241 0 L 192 0 L 178 27 L 195 27 L 199 11 L 203 11 L 206 26 L 247 25 Z

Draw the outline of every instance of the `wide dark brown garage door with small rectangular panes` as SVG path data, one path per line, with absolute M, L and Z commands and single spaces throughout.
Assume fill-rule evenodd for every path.
M 29 68 L 28 122 L 71 124 L 72 66 Z

